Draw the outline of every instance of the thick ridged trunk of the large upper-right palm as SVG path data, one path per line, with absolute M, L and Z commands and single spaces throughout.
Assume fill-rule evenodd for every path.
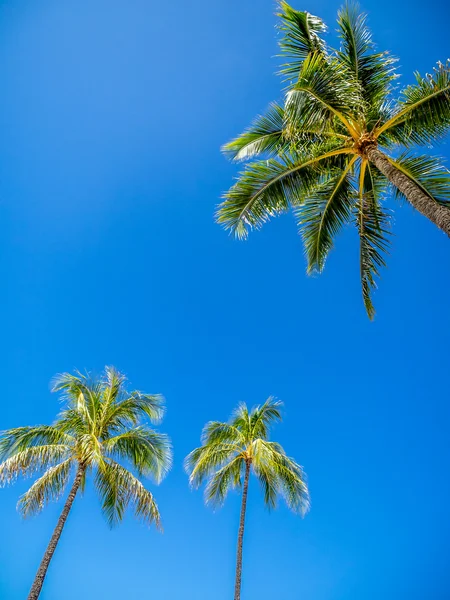
M 450 208 L 442 206 L 425 194 L 407 175 L 399 171 L 376 146 L 369 146 L 366 149 L 366 155 L 370 162 L 406 196 L 416 210 L 450 237 Z

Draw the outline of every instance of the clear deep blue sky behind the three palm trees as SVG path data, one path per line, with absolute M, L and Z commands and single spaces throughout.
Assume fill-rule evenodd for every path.
M 336 0 L 298 0 L 334 30 Z M 404 83 L 449 55 L 442 0 L 366 0 Z M 49 380 L 113 364 L 161 392 L 175 446 L 165 533 L 110 531 L 78 498 L 43 600 L 232 597 L 239 498 L 214 513 L 182 459 L 240 400 L 285 402 L 301 520 L 250 488 L 245 600 L 450 595 L 449 240 L 395 212 L 374 323 L 357 246 L 307 278 L 296 225 L 248 242 L 213 222 L 220 145 L 280 96 L 272 0 L 8 0 L 0 6 L 0 428 L 51 422 Z M 441 148 L 447 156 L 447 147 Z M 396 207 L 397 208 L 397 207 Z M 0 493 L 0 597 L 23 600 L 61 505 L 22 522 Z

